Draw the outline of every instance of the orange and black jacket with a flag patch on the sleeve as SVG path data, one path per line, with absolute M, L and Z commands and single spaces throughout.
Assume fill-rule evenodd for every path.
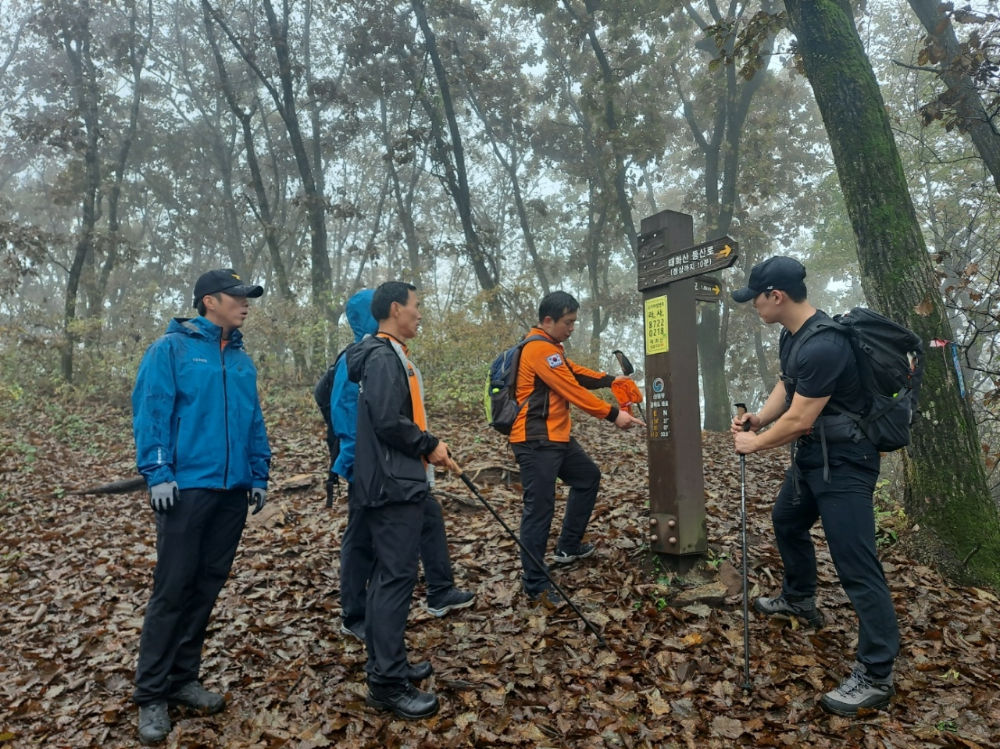
M 574 364 L 566 358 L 562 344 L 541 328 L 532 328 L 528 335 L 540 335 L 545 340 L 530 341 L 521 349 L 516 397 L 523 405 L 511 429 L 510 441 L 569 442 L 570 403 L 591 416 L 614 423 L 618 407 L 605 403 L 590 391 L 611 387 L 615 376 Z

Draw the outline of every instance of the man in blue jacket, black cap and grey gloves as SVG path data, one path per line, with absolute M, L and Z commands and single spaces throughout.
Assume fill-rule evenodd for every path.
M 199 682 L 209 616 L 236 556 L 247 502 L 267 499 L 271 449 L 257 369 L 239 328 L 264 293 L 229 269 L 194 287 L 198 317 L 175 318 L 146 351 L 132 391 L 139 471 L 156 517 L 156 570 L 139 641 L 133 700 L 139 741 L 170 733 L 167 705 L 226 706 Z

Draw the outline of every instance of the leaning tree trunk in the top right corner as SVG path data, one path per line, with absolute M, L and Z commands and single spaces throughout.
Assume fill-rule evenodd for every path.
M 909 0 L 909 3 L 927 33 L 945 53 L 939 75 L 949 93 L 954 92 L 956 96 L 954 107 L 962 118 L 960 127 L 969 132 L 980 158 L 993 175 L 994 186 L 1000 191 L 1000 134 L 993 129 L 972 79 L 956 68 L 962 50 L 951 19 L 941 12 L 940 0 Z

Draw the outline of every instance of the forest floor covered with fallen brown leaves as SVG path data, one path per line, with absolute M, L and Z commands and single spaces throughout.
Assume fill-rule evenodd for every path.
M 438 488 L 456 577 L 477 602 L 435 619 L 418 588 L 407 632 L 413 656 L 434 665 L 427 685 L 441 712 L 408 723 L 367 709 L 363 648 L 339 634 L 345 506 L 324 507 L 325 446 L 312 408 L 303 396 L 267 409 L 272 495 L 249 520 L 204 659 L 206 684 L 230 706 L 211 718 L 172 711 L 165 746 L 1000 745 L 997 598 L 947 585 L 898 546 L 883 561 L 902 628 L 899 696 L 858 720 L 817 707 L 849 669 L 857 637 L 819 530 L 828 626 L 802 630 L 751 614 L 754 689 L 745 694 L 739 473 L 728 437 L 702 437 L 710 560 L 675 577 L 643 544 L 644 438 L 583 416 L 578 436 L 604 472 L 590 536 L 598 553 L 556 574 L 610 649 L 569 610 L 527 605 L 514 542 L 452 479 Z M 516 528 L 520 499 L 516 475 L 504 481 L 512 460 L 503 441 L 475 417 L 434 423 Z M 128 412 L 7 404 L 0 426 L 0 747 L 135 746 L 129 697 L 155 562 L 151 511 L 139 494 L 58 491 L 134 475 Z M 776 451 L 748 461 L 754 593 L 781 579 L 769 509 L 785 460 Z M 712 580 L 728 586 L 723 606 L 672 603 Z

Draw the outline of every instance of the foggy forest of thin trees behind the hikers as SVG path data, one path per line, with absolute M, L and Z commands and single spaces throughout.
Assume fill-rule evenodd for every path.
M 481 401 L 489 360 L 553 289 L 583 305 L 575 358 L 610 370 L 620 348 L 641 363 L 636 235 L 668 208 L 694 215 L 696 241 L 739 241 L 730 286 L 784 253 L 817 306 L 864 304 L 783 10 L 2 0 L 0 402 L 72 388 L 124 403 L 211 267 L 266 287 L 247 333 L 275 393 L 311 387 L 350 340 L 347 298 L 388 279 L 420 287 L 416 356 L 438 407 Z M 975 87 L 1000 139 L 992 10 L 877 0 L 855 20 L 996 496 L 1000 201 L 951 87 Z M 957 53 L 921 12 L 945 19 Z M 699 304 L 714 430 L 777 376 L 777 331 L 726 299 Z

